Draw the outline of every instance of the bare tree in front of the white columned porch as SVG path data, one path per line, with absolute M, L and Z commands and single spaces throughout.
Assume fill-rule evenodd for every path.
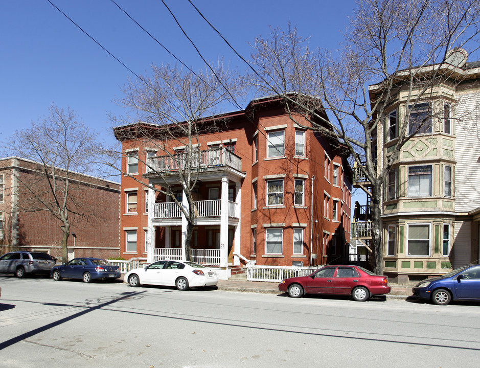
M 125 117 L 112 117 L 122 124 L 115 128 L 117 139 L 126 142 L 134 139 L 143 142 L 155 158 L 135 157 L 147 168 L 148 175 L 132 177 L 144 187 L 150 186 L 156 193 L 171 198 L 187 219 L 184 240 L 185 257 L 191 260 L 191 239 L 195 221 L 194 190 L 198 187 L 198 175 L 205 157 L 199 151 L 199 135 L 218 130 L 212 118 L 237 93 L 239 84 L 234 74 L 219 63 L 217 67 L 205 67 L 204 71 L 184 71 L 176 66 L 152 66 L 151 76 L 130 80 L 123 88 L 124 97 L 118 100 L 126 111 Z M 205 118 L 208 123 L 205 123 Z M 218 115 L 218 122 L 222 117 Z M 174 147 L 182 149 L 174 150 Z M 117 154 L 115 151 L 111 151 Z M 122 152 L 128 159 L 128 152 Z M 135 153 L 136 154 L 136 153 Z M 208 154 L 222 154 L 221 151 Z M 127 172 L 122 172 L 129 175 Z M 175 196 L 178 186 L 184 194 L 182 203 Z

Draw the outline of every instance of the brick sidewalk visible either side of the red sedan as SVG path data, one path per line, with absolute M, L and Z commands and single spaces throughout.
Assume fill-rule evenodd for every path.
M 389 284 L 392 291 L 386 295 L 387 299 L 405 299 L 412 295 L 413 285 Z M 218 290 L 272 293 L 280 294 L 278 283 L 243 281 L 243 280 L 218 280 Z

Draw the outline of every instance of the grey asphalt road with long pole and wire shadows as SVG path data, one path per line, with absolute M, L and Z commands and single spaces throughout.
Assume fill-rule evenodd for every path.
M 0 276 L 0 367 L 477 367 L 480 305 Z

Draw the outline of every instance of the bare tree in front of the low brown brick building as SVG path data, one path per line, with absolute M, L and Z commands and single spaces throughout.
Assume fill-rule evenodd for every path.
M 93 163 L 96 134 L 90 131 L 70 107 L 52 104 L 49 114 L 31 128 L 15 133 L 6 142 L 6 156 L 31 160 L 30 170 L 35 175 L 12 175 L 18 182 L 17 193 L 24 200 L 15 211 L 48 211 L 61 223 L 62 261 L 68 261 L 67 241 L 72 217 L 88 219 L 92 213 L 78 203 L 74 192 L 82 190 L 78 173 L 98 173 Z M 28 180 L 28 181 L 27 181 Z

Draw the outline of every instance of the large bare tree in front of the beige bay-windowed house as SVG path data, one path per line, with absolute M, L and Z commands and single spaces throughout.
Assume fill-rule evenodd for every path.
M 454 84 L 449 50 L 478 49 L 480 3 L 477 0 L 362 0 L 337 55 L 311 50 L 308 40 L 289 27 L 257 38 L 247 82 L 262 95 L 283 96 L 295 120 L 301 113 L 312 129 L 345 144 L 367 179 L 371 197 L 374 270 L 383 271 L 382 186 L 404 144 L 443 111 L 416 117 L 417 104 L 432 99 L 439 83 Z M 406 100 L 398 117 L 398 140 L 383 162 L 376 160 L 377 132 L 399 93 Z M 319 111 L 327 111 L 324 119 Z M 306 127 L 307 128 L 307 127 Z M 379 137 L 381 139 L 381 137 Z

